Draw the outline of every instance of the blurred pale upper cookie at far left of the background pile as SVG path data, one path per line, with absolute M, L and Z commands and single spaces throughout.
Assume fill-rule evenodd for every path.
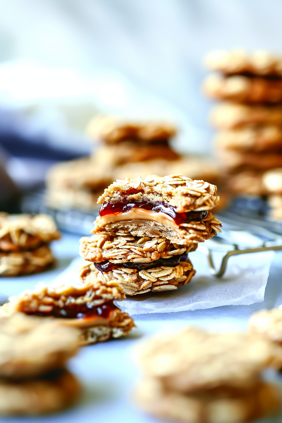
M 99 191 L 112 181 L 109 168 L 97 166 L 89 157 L 53 165 L 47 173 L 47 188 Z

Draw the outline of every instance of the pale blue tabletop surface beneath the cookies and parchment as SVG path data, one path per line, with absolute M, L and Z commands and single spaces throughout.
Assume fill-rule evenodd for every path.
M 46 282 L 57 276 L 77 256 L 79 236 L 64 234 L 54 242 L 53 251 L 58 258 L 55 269 L 40 275 L 19 278 L 2 278 L 0 292 L 11 295 L 23 289 L 33 288 L 40 280 Z M 57 415 L 36 418 L 1 418 L 3 422 L 123 422 L 153 423 L 135 410 L 128 400 L 131 387 L 137 378 L 137 368 L 132 360 L 132 346 L 143 335 L 150 335 L 159 330 L 173 328 L 177 330 L 188 324 L 213 330 L 245 330 L 247 319 L 261 308 L 273 308 L 282 304 L 282 253 L 277 253 L 271 265 L 266 286 L 265 300 L 249 306 L 225 306 L 207 310 L 194 310 L 178 313 L 148 314 L 134 316 L 137 329 L 132 335 L 82 348 L 79 354 L 70 360 L 69 368 L 79 378 L 82 397 L 76 407 Z M 282 421 L 276 420 L 276 421 Z

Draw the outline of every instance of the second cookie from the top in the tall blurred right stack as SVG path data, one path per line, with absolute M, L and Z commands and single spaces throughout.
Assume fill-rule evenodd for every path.
M 203 91 L 216 100 L 274 104 L 282 100 L 282 79 L 211 74 L 203 83 Z

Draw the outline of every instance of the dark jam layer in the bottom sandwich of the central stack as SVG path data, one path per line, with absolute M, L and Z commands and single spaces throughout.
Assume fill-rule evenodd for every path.
M 127 263 L 111 263 L 110 261 L 101 261 L 100 263 L 94 263 L 96 269 L 100 270 L 101 272 L 110 272 L 111 270 L 117 269 L 118 267 L 126 267 L 126 269 L 137 269 L 137 272 L 140 270 L 148 270 L 152 269 L 153 267 L 159 266 L 171 266 L 175 267 L 181 261 L 186 261 L 188 254 L 182 255 L 175 255 L 170 258 L 158 258 L 158 260 L 151 261 L 151 263 L 131 263 L 128 261 Z

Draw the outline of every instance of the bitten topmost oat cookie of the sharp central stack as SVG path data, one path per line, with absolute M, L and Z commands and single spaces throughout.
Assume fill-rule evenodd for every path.
M 178 213 L 211 210 L 219 203 L 216 186 L 182 176 L 181 173 L 161 178 L 156 175 L 113 182 L 98 203 L 149 202 L 167 203 Z

